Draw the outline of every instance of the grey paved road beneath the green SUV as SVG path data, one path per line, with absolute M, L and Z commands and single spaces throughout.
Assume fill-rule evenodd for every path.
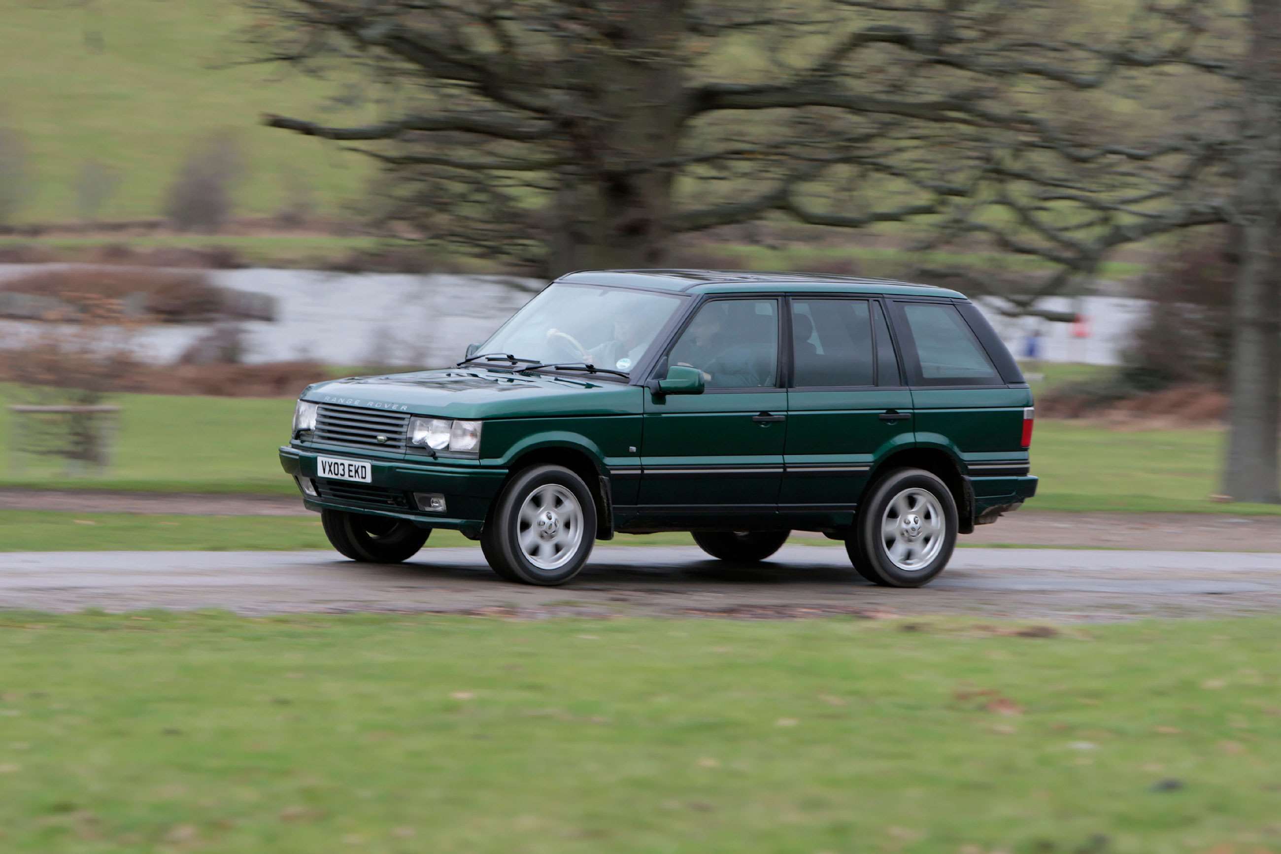
M 336 560 L 332 552 L 10 552 L 0 553 L 0 607 L 529 617 L 1226 616 L 1281 611 L 1281 554 L 967 548 L 930 586 L 886 590 L 853 574 L 844 549 L 817 545 L 788 545 L 751 570 L 688 547 L 598 548 L 574 584 L 551 589 L 501 581 L 470 548 L 425 549 L 392 567 Z

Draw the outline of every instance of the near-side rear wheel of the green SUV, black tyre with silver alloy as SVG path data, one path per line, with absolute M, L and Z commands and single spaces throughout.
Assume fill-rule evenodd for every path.
M 925 499 L 924 493 L 931 495 L 933 502 Z M 906 515 L 901 512 L 903 507 L 908 508 Z M 915 524 L 910 524 L 913 516 Z M 906 521 L 895 524 L 904 517 Z M 931 519 L 936 520 L 936 543 L 929 536 Z M 913 530 L 917 531 L 915 536 L 911 535 Z M 918 588 L 943 571 L 956 543 L 957 504 L 948 485 L 924 469 L 894 469 L 869 490 L 854 521 L 854 535 L 845 540 L 845 552 L 858 574 L 872 584 Z M 892 548 L 898 560 L 892 556 Z M 916 566 L 910 566 L 913 562 Z

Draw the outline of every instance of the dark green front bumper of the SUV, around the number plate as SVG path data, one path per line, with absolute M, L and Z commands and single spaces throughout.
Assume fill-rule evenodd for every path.
M 296 478 L 316 480 L 316 457 L 360 460 L 370 467 L 371 483 L 350 484 L 342 480 L 320 480 L 320 495 L 302 495 L 307 510 L 346 510 L 375 516 L 404 519 L 423 528 L 451 528 L 478 534 L 498 490 L 507 476 L 506 469 L 445 462 L 410 462 L 379 460 L 360 453 L 283 446 L 281 467 Z M 333 487 L 330 489 L 329 487 Z M 445 495 L 445 512 L 419 510 L 414 493 Z

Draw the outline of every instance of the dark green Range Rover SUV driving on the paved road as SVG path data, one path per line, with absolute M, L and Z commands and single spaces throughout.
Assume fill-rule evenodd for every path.
M 593 270 L 455 367 L 307 387 L 281 463 L 355 561 L 447 528 L 551 585 L 616 531 L 752 562 L 810 530 L 869 581 L 920 586 L 1035 494 L 1031 433 L 1027 383 L 954 291 Z

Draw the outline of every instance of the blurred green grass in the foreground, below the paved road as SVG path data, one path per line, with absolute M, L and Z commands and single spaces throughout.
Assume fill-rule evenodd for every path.
M 0 845 L 1277 850 L 1281 621 L 1016 632 L 3 615 Z

